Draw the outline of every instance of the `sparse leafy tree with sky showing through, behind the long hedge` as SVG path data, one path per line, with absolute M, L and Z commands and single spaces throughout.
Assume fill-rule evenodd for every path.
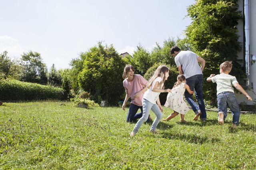
M 40 53 L 29 51 L 21 56 L 24 61 L 25 72 L 22 81 L 47 83 L 47 67 L 42 62 Z

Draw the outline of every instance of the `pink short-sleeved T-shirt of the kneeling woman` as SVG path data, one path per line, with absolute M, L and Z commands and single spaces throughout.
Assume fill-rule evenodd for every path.
M 133 98 L 134 94 L 139 92 L 140 90 L 143 89 L 142 84 L 144 84 L 145 86 L 148 84 L 148 81 L 145 80 L 145 78 L 143 78 L 140 74 L 134 74 L 134 78 L 132 81 L 128 82 L 127 78 L 124 79 L 123 81 L 123 85 L 126 91 L 126 94 L 130 97 Z M 138 96 L 138 98 L 135 98 L 134 100 L 132 100 L 132 104 L 135 104 L 137 106 L 142 106 L 142 98 L 143 98 L 143 94 L 142 93 L 140 96 Z

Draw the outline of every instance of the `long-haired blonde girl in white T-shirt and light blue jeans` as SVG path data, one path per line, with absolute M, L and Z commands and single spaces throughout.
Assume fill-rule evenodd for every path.
M 130 133 L 130 136 L 135 136 L 140 126 L 147 120 L 150 109 L 156 114 L 156 119 L 154 120 L 150 132 L 156 133 L 156 126 L 162 119 L 162 106 L 159 100 L 160 92 L 171 92 L 170 89 L 162 89 L 164 86 L 165 80 L 169 77 L 169 68 L 165 65 L 160 65 L 154 75 L 148 81 L 148 90 L 145 92 L 143 99 L 142 99 L 142 107 L 143 107 L 143 115 L 136 123 L 134 129 Z M 157 103 L 157 104 L 156 104 Z

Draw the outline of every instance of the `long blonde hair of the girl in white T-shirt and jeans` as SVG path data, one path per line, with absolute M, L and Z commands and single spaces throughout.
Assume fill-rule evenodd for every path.
M 159 87 L 165 82 L 165 73 L 169 71 L 169 68 L 166 65 L 160 65 L 154 72 L 154 75 L 148 80 L 148 88 L 152 86 L 152 83 L 157 77 L 161 77 L 162 81 L 159 83 Z

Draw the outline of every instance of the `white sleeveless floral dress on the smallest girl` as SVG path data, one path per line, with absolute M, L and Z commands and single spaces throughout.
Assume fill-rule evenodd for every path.
M 165 107 L 172 109 L 180 114 L 186 114 L 189 111 L 189 108 L 184 101 L 184 88 L 185 83 L 181 83 L 175 88 L 172 89 L 172 92 L 169 92 L 167 95 Z

